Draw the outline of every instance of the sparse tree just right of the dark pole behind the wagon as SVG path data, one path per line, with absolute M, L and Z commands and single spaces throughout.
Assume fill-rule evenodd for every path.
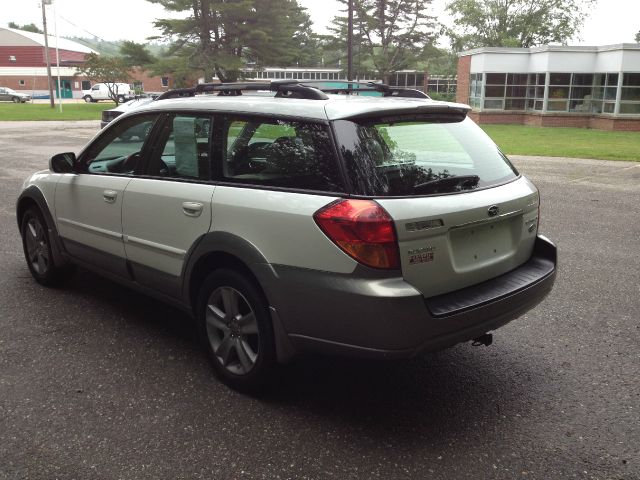
M 426 14 L 430 4 L 431 0 L 353 0 L 354 44 L 359 46 L 360 62 L 370 61 L 385 83 L 393 72 L 414 64 L 424 46 L 433 43 L 434 18 Z M 334 29 L 346 44 L 344 25 L 344 17 L 334 19 Z

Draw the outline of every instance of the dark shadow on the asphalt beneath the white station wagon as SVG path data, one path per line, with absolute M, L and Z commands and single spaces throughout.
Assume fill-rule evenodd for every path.
M 203 397 L 227 389 L 203 361 L 195 322 L 186 313 L 90 272 L 79 272 L 69 289 L 74 297 L 117 312 L 142 336 L 159 339 L 156 349 L 186 351 L 191 359 L 183 367 L 196 369 Z M 435 432 L 439 441 L 446 441 L 494 429 L 535 401 L 533 385 L 545 381 L 539 366 L 520 355 L 517 345 L 496 343 L 462 344 L 407 361 L 302 356 L 279 368 L 273 385 L 259 395 L 230 394 L 237 408 L 266 409 L 284 417 L 313 415 L 396 443 Z

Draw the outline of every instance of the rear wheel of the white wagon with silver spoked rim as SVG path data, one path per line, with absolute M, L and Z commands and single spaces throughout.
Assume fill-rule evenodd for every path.
M 200 337 L 218 378 L 244 393 L 267 386 L 276 355 L 260 288 L 235 270 L 216 270 L 203 282 L 197 307 Z

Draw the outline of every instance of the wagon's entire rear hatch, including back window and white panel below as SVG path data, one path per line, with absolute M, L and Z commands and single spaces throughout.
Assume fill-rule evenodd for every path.
M 393 218 L 402 275 L 425 297 L 531 256 L 538 192 L 471 120 L 394 113 L 339 120 L 335 132 L 355 193 Z

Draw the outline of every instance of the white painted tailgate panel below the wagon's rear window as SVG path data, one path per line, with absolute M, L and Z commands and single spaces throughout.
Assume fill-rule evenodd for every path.
M 524 178 L 473 193 L 378 203 L 395 221 L 402 275 L 425 297 L 513 270 L 535 243 L 538 193 Z

